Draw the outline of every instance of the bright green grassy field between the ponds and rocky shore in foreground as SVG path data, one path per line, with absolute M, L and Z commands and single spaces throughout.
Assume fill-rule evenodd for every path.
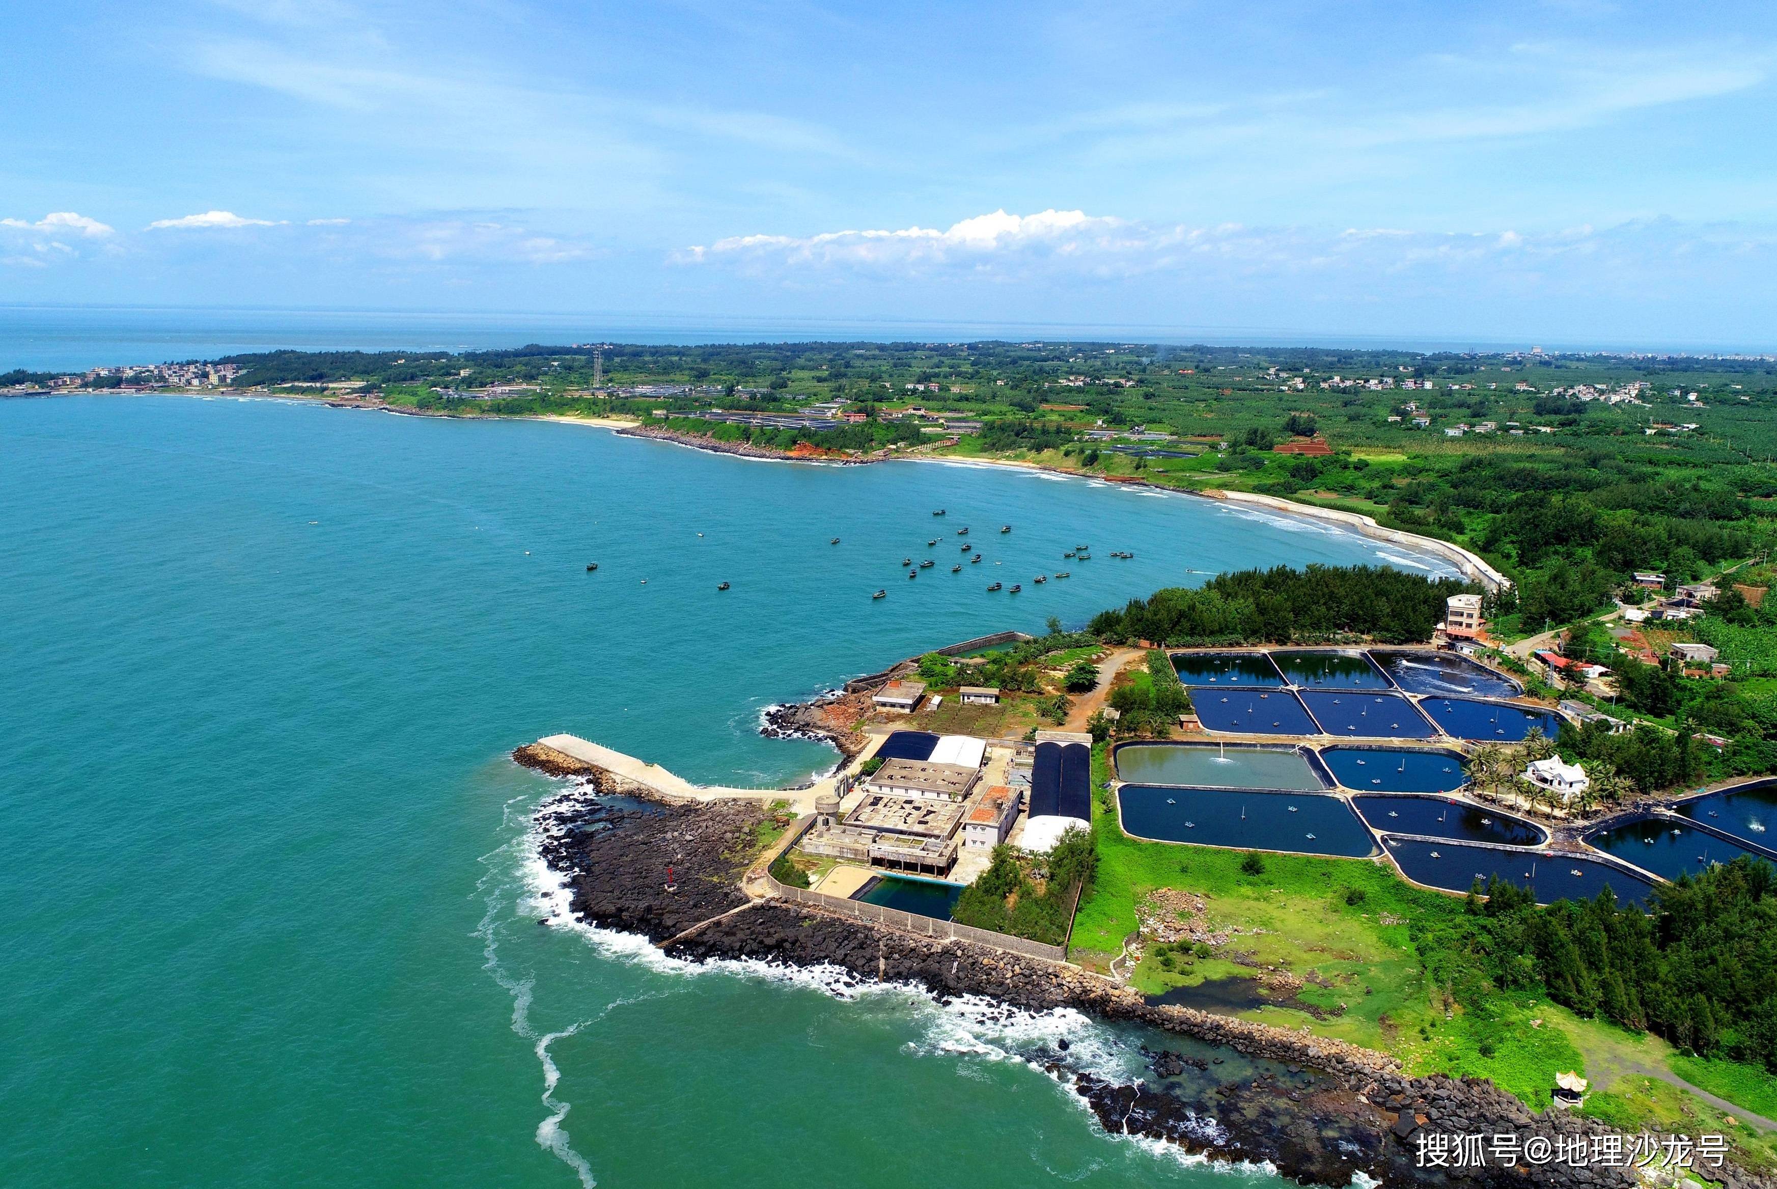
M 1143 993 L 1288 972 L 1303 979 L 1295 1001 L 1317 1011 L 1260 1006 L 1237 1015 L 1391 1052 L 1411 1073 L 1489 1077 L 1534 1109 L 1550 1104 L 1557 1072 L 1612 1084 L 1672 1059 L 1672 1049 L 1654 1036 L 1582 1020 L 1537 995 L 1500 992 L 1468 1006 L 1450 999 L 1425 976 L 1413 931 L 1461 914 L 1461 899 L 1414 889 L 1370 860 L 1265 855 L 1263 873 L 1247 874 L 1244 851 L 1130 839 L 1100 787 L 1109 777 L 1105 748 L 1095 748 L 1098 874 L 1073 922 L 1073 962 L 1109 969 L 1137 930 L 1137 903 L 1155 889 L 1182 889 L 1203 896 L 1203 924 L 1230 937 L 1207 956 L 1173 946 L 1166 954 L 1146 953 L 1130 976 Z M 1686 1065 L 1681 1077 L 1759 1114 L 1777 1098 L 1777 1079 L 1759 1070 L 1701 1066 L 1692 1077 Z M 1686 1109 L 1709 1111 L 1695 1097 L 1667 1089 Z

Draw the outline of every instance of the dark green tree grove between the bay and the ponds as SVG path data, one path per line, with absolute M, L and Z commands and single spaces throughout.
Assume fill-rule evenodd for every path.
M 1128 643 L 1320 643 L 1367 636 L 1384 643 L 1430 640 L 1445 601 L 1475 587 L 1381 565 L 1278 565 L 1219 574 L 1191 590 L 1171 587 L 1100 611 L 1088 631 Z

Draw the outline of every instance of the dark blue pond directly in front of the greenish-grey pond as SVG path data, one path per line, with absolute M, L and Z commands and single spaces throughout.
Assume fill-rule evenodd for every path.
M 1370 832 L 1326 793 L 1251 793 L 1125 784 L 1118 789 L 1123 832 L 1159 842 L 1292 851 L 1361 858 Z

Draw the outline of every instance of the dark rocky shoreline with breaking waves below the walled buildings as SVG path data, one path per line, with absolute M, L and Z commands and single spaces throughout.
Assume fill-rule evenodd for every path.
M 540 768 L 553 759 L 531 752 L 522 762 Z M 604 791 L 597 773 L 574 775 Z M 601 798 L 558 798 L 538 812 L 542 858 L 565 880 L 576 919 L 641 933 L 691 962 L 841 967 L 862 983 L 917 983 L 940 999 L 981 995 L 1027 1011 L 1073 1008 L 1269 1063 L 1256 1075 L 1217 1081 L 1205 1059 L 1162 1050 L 1151 1054 L 1153 1081 L 1116 1082 L 1072 1068 L 1064 1041 L 1061 1050 L 1036 1054 L 1032 1059 L 1072 1086 L 1112 1134 L 1148 1136 L 1215 1159 L 1271 1162 L 1303 1184 L 1345 1185 L 1358 1173 L 1390 1187 L 1635 1184 L 1622 1169 L 1598 1166 L 1519 1161 L 1420 1168 L 1422 1134 L 1512 1134 L 1519 1143 L 1542 1137 L 1550 1145 L 1610 1134 L 1603 1123 L 1564 1111 L 1532 1114 L 1487 1081 L 1409 1077 L 1386 1054 L 1153 1006 L 1073 967 L 901 933 L 775 898 L 753 899 L 743 883 L 759 890 L 759 873 L 750 867 L 761 814 L 746 802 L 638 810 Z M 1772 1184 L 1733 1166 L 1699 1171 L 1731 1189 Z

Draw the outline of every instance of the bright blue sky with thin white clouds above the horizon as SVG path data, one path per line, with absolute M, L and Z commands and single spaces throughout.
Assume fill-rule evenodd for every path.
M 1772 5 L 75 0 L 7 25 L 4 304 L 1777 348 Z

